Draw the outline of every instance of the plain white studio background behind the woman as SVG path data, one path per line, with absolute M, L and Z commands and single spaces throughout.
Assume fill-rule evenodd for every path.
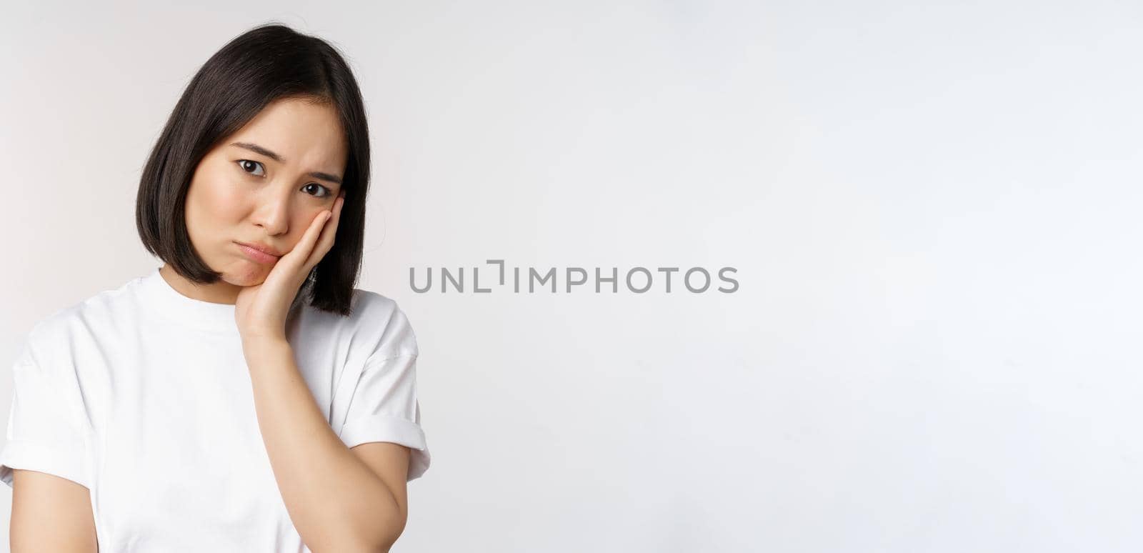
M 394 552 L 1143 548 L 1140 5 L 8 2 L 0 358 L 158 266 L 146 154 L 270 19 L 369 110 L 433 455 Z M 409 287 L 490 258 L 740 289 Z

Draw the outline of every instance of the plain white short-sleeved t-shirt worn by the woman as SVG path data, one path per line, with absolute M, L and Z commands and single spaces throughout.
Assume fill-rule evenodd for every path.
M 294 358 L 346 447 L 407 446 L 416 479 L 430 455 L 413 328 L 376 292 L 355 289 L 352 308 L 303 305 Z M 37 323 L 13 375 L 0 480 L 86 486 L 99 551 L 310 552 L 262 441 L 234 305 L 189 298 L 157 267 Z

